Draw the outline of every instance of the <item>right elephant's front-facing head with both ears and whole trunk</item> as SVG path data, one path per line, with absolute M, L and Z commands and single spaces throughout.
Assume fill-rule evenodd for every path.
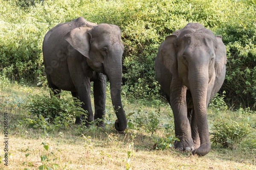
M 209 29 L 199 23 L 190 23 L 166 37 L 161 49 L 163 56 L 168 56 L 164 65 L 173 79 L 179 79 L 191 92 L 195 114 L 192 126 L 198 130 L 196 136 L 200 138 L 200 147 L 192 153 L 204 156 L 210 150 L 207 106 L 224 81 L 225 45 L 221 37 Z

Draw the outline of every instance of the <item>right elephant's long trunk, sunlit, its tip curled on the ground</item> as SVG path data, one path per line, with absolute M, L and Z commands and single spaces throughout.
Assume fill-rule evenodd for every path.
M 208 65 L 207 65 L 208 66 Z M 197 66 L 193 71 L 189 71 L 189 88 L 192 94 L 192 100 L 195 110 L 195 122 L 192 128 L 198 129 L 200 138 L 200 147 L 192 151 L 192 154 L 204 156 L 209 153 L 211 144 L 209 140 L 209 130 L 207 123 L 207 88 L 208 88 L 208 68 Z

